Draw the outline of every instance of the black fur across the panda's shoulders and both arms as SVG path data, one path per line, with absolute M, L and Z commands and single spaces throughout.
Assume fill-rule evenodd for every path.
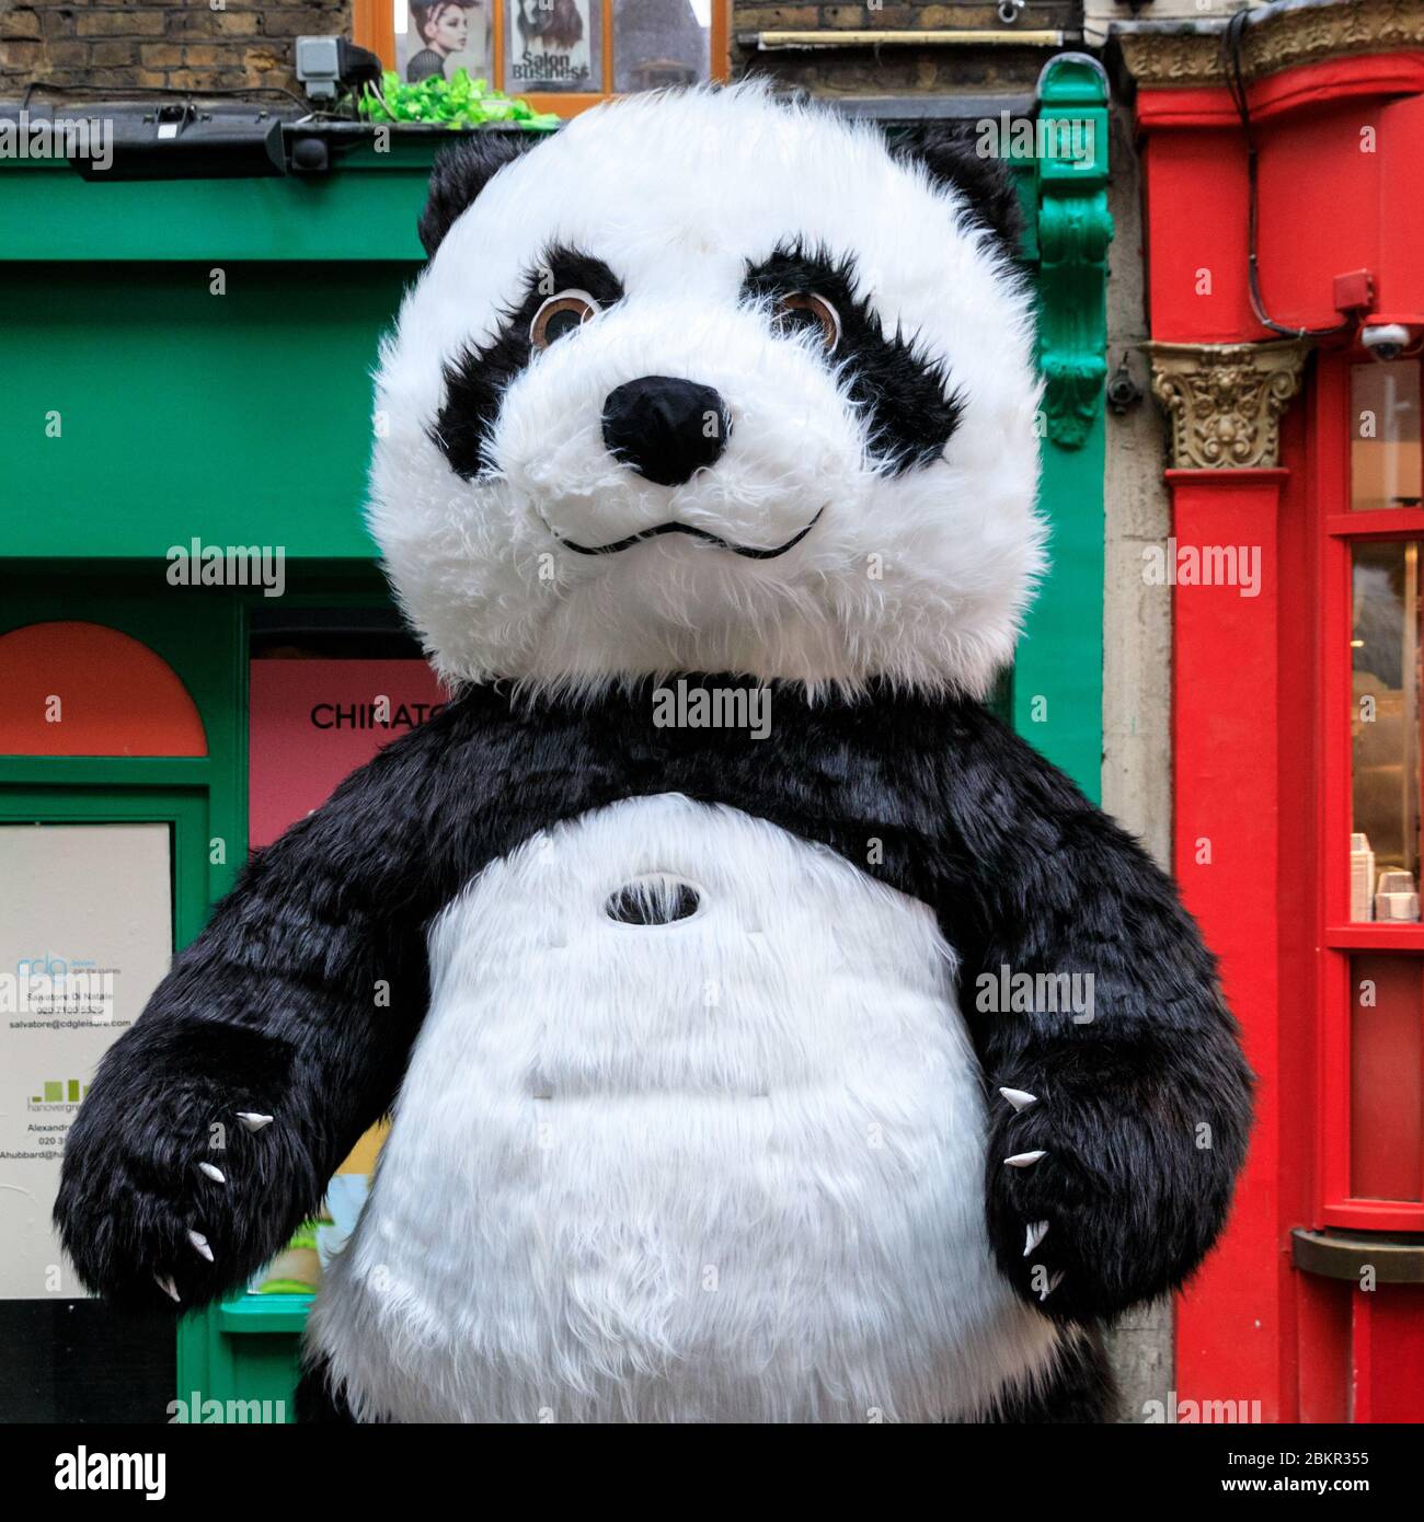
M 1136 842 L 985 709 L 883 688 L 809 705 L 774 686 L 771 735 L 751 741 L 655 728 L 646 688 L 591 705 L 477 688 L 259 852 L 104 1058 L 55 1207 L 84 1282 L 168 1304 L 154 1275 L 171 1274 L 184 1306 L 244 1283 L 390 1106 L 425 1015 L 429 919 L 541 828 L 667 791 L 824 842 L 935 910 L 988 1085 L 990 1236 L 1026 1300 L 1034 1265 L 1065 1271 L 1042 1304 L 1063 1320 L 1191 1274 L 1250 1114 L 1215 966 Z M 978 977 L 1001 965 L 1092 973 L 1095 1020 L 979 1011 Z M 999 1085 L 1040 1103 L 1016 1113 Z M 277 1119 L 248 1135 L 239 1110 Z M 1004 1166 L 1033 1148 L 1037 1166 Z

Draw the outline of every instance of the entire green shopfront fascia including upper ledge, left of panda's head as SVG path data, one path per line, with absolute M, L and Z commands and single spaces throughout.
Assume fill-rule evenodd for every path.
M 0 164 L 0 368 L 23 376 L 0 409 L 0 559 L 161 559 L 193 534 L 370 559 L 370 373 L 443 142 L 312 178 Z

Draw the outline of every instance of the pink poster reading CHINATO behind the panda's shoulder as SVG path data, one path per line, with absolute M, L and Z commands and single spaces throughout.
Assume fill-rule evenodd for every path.
M 248 670 L 248 840 L 254 851 L 446 703 L 423 661 L 253 661 Z

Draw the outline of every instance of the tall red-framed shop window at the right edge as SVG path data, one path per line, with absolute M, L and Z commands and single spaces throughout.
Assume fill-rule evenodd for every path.
M 1418 358 L 1323 356 L 1322 1224 L 1424 1231 Z

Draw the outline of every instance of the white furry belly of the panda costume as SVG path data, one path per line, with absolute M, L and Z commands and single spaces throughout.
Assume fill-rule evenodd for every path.
M 696 910 L 612 919 L 649 874 Z M 981 1075 L 926 906 L 663 794 L 489 866 L 429 953 L 309 1333 L 358 1415 L 963 1419 L 1051 1358 L 988 1250 Z

